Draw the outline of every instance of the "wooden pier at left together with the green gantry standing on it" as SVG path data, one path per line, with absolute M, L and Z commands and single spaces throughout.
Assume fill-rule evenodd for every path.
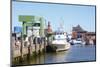
M 45 19 L 38 16 L 21 15 L 22 31 L 12 33 L 12 58 L 13 62 L 29 59 L 46 51 Z

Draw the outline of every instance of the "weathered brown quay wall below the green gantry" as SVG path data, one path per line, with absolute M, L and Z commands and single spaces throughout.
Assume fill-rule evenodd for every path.
M 37 56 L 43 53 L 45 50 L 45 42 L 41 44 L 33 44 L 32 41 L 16 41 L 14 37 L 12 37 L 12 59 L 15 61 L 22 61 L 25 56 Z

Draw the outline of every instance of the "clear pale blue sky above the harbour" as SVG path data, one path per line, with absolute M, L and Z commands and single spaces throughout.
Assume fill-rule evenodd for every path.
M 47 4 L 34 2 L 12 2 L 12 31 L 14 26 L 22 26 L 19 15 L 42 16 L 51 23 L 53 31 L 63 26 L 70 33 L 78 24 L 86 31 L 95 32 L 95 6 L 69 4 Z

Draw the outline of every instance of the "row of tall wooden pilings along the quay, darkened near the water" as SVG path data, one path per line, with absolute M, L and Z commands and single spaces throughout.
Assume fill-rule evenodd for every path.
M 35 42 L 33 44 L 33 39 L 31 39 L 29 42 L 29 46 L 24 46 L 25 42 L 24 39 L 21 39 L 21 46 L 20 49 L 15 50 L 13 49 L 13 63 L 21 63 L 23 61 L 29 60 L 31 57 L 37 57 L 41 55 L 44 51 L 46 51 L 46 40 L 44 39 L 41 43 L 37 42 L 37 39 L 35 39 Z M 20 53 L 18 53 L 18 51 Z

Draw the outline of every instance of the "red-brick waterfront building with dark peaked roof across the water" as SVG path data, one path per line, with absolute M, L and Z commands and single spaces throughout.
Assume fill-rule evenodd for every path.
M 93 41 L 96 44 L 96 33 L 85 31 L 80 25 L 72 28 L 72 38 L 82 38 L 87 44 L 89 44 L 89 41 Z

